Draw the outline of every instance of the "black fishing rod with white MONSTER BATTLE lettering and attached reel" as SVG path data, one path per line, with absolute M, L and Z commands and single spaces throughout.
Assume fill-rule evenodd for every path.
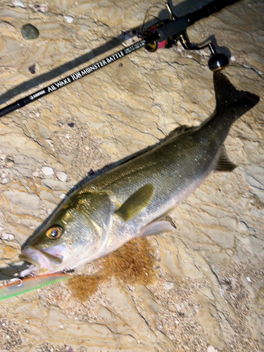
M 42 96 L 46 96 L 61 87 L 65 87 L 70 83 L 80 80 L 82 77 L 87 76 L 90 73 L 105 67 L 106 65 L 118 61 L 120 58 L 123 58 L 128 54 L 141 49 L 142 47 L 145 47 L 146 50 L 150 52 L 156 51 L 157 49 L 161 49 L 163 47 L 170 48 L 173 44 L 177 44 L 177 42 L 180 42 L 184 49 L 187 50 L 201 50 L 208 47 L 212 54 L 210 60 L 208 61 L 210 70 L 222 70 L 229 63 L 227 56 L 225 54 L 218 54 L 210 39 L 207 39 L 206 42 L 203 42 L 203 44 L 191 43 L 189 41 L 186 29 L 202 18 L 206 18 L 209 15 L 222 10 L 222 8 L 236 3 L 237 1 L 239 0 L 215 0 L 210 2 L 208 5 L 201 7 L 199 10 L 188 13 L 180 18 L 177 18 L 177 16 L 172 13 L 170 5 L 166 3 L 166 7 L 170 14 L 170 19 L 159 20 L 158 23 L 149 29 L 144 30 L 143 33 L 139 34 L 139 42 L 127 46 L 125 49 L 115 52 L 115 54 L 111 54 L 106 58 L 83 68 L 82 70 L 68 75 L 62 80 L 58 80 L 57 82 L 52 83 L 43 89 L 39 89 L 39 91 L 0 109 L 0 118 L 8 113 L 11 113 L 12 111 L 17 110 L 18 108 L 22 108 L 28 103 L 32 103 L 32 101 L 42 98 Z

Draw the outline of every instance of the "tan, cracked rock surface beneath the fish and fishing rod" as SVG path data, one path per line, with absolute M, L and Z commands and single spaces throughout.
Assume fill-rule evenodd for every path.
M 175 11 L 182 15 L 206 2 L 174 1 Z M 91 63 L 105 57 L 92 59 L 92 50 L 142 25 L 149 6 L 161 8 L 158 1 L 137 0 L 23 5 L 0 1 L 2 106 L 58 80 L 70 60 L 68 68 L 89 52 Z M 113 275 L 85 301 L 67 283 L 1 301 L 1 351 L 263 351 L 263 13 L 263 1 L 244 0 L 188 30 L 194 42 L 215 34 L 219 46 L 230 48 L 225 74 L 236 87 L 260 95 L 260 103 L 233 125 L 225 143 L 239 168 L 210 175 L 170 213 L 175 232 L 148 240 L 156 280 L 121 284 Z M 38 28 L 37 39 L 21 37 L 27 23 Z M 15 273 L 8 265 L 17 263 L 20 244 L 62 194 L 213 113 L 208 56 L 180 46 L 154 54 L 142 49 L 122 58 L 122 65 L 113 63 L 1 118 L 1 279 Z M 93 275 L 103 260 L 82 272 Z

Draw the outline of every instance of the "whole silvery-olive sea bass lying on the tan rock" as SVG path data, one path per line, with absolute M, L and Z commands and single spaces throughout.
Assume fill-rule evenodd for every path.
M 213 171 L 232 171 L 223 143 L 241 115 L 259 101 L 214 73 L 216 108 L 199 127 L 182 127 L 142 155 L 76 189 L 22 251 L 20 272 L 49 274 L 77 268 L 135 237 L 175 230 L 161 218 Z

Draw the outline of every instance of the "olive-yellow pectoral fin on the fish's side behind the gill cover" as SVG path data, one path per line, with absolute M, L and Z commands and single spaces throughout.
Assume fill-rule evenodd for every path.
M 130 196 L 127 201 L 117 210 L 116 214 L 125 222 L 139 215 L 149 205 L 153 196 L 153 184 L 145 184 L 142 188 Z

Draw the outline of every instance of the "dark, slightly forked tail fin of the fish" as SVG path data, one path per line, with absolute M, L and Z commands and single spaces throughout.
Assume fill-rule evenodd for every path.
M 229 111 L 234 120 L 244 115 L 259 101 L 259 96 L 249 92 L 237 90 L 225 75 L 220 72 L 213 73 L 215 86 L 215 99 L 217 111 Z

